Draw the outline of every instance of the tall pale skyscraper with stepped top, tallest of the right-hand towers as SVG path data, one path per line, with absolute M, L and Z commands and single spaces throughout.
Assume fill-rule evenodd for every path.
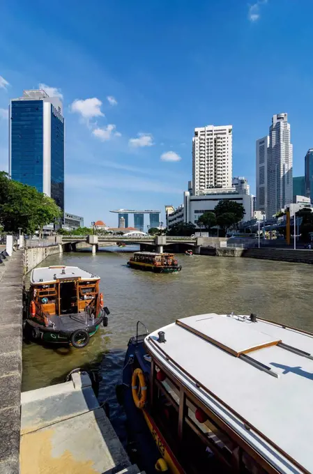
M 292 145 L 287 114 L 273 115 L 267 167 L 268 217 L 292 203 Z

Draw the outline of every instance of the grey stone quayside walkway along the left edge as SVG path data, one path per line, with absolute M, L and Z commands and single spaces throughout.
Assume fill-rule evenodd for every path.
M 0 264 L 0 474 L 20 472 L 22 251 Z

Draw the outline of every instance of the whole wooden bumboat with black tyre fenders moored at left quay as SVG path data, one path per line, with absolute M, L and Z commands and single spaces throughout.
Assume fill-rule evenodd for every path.
M 72 266 L 35 268 L 31 272 L 26 333 L 44 342 L 86 346 L 109 309 L 99 291 L 100 277 Z

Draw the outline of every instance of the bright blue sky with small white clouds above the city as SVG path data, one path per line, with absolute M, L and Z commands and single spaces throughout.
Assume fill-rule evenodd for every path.
M 8 100 L 38 84 L 58 89 L 66 211 L 85 224 L 116 225 L 112 208 L 181 204 L 194 127 L 233 125 L 233 174 L 253 192 L 255 140 L 273 114 L 288 112 L 293 176 L 304 174 L 313 147 L 312 0 L 4 3 L 0 169 Z

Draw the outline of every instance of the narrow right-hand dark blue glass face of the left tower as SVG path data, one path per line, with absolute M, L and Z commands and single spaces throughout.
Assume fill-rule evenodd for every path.
M 64 211 L 64 120 L 51 106 L 51 197 Z

